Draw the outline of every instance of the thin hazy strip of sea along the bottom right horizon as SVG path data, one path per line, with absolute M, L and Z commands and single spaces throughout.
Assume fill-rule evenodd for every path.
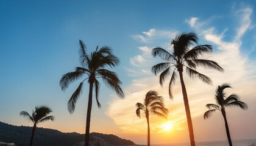
M 232 140 L 233 146 L 256 146 L 256 139 Z M 190 146 L 190 143 L 152 144 L 151 146 Z M 228 141 L 196 142 L 196 146 L 229 146 Z

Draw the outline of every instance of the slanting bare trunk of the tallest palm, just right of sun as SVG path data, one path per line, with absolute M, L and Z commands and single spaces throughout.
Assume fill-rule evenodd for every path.
M 192 119 L 190 115 L 190 105 L 188 104 L 188 95 L 187 95 L 185 83 L 183 80 L 182 71 L 179 71 L 179 74 L 180 74 L 180 83 L 182 86 L 182 94 L 183 94 L 183 100 L 185 105 L 185 111 L 187 115 L 188 131 L 190 133 L 190 144 L 191 146 L 195 146 L 196 144 L 194 142 L 194 131 L 193 131 Z

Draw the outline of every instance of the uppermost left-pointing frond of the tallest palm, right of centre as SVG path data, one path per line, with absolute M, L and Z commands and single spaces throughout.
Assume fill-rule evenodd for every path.
M 174 56 L 172 56 L 167 50 L 161 47 L 155 47 L 154 49 L 152 49 L 152 56 L 153 57 L 158 56 L 166 61 L 174 61 L 174 60 L 177 61 Z

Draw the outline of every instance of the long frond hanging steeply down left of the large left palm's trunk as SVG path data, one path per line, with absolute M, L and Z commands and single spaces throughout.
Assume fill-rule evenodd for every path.
M 80 97 L 80 95 L 82 94 L 83 91 L 83 85 L 84 82 L 81 82 L 79 84 L 79 86 L 77 87 L 76 91 L 74 91 L 74 93 L 72 94 L 72 96 L 70 97 L 70 99 L 68 100 L 68 111 L 69 113 L 73 113 L 74 109 L 76 108 L 76 102 L 77 99 Z

